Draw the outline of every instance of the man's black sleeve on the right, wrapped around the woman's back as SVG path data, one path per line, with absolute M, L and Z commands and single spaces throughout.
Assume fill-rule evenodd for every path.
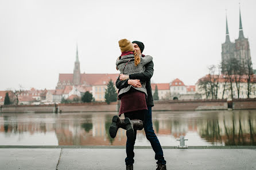
M 150 61 L 148 64 L 145 65 L 145 72 L 130 74 L 129 78 L 139 79 L 141 81 L 147 81 L 147 80 L 150 80 L 150 78 L 153 76 L 153 73 L 154 73 L 154 63 L 153 61 Z M 118 77 L 118 80 L 119 80 L 119 77 Z

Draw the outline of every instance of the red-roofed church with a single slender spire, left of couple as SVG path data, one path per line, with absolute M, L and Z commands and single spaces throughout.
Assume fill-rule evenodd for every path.
M 119 74 L 86 74 L 80 73 L 80 62 L 78 57 L 78 49 L 76 46 L 76 60 L 73 69 L 73 74 L 59 74 L 59 81 L 56 89 L 67 89 L 72 86 L 79 92 L 89 91 L 92 93 L 96 101 L 104 101 L 104 92 L 107 84 L 112 80 L 115 84 Z

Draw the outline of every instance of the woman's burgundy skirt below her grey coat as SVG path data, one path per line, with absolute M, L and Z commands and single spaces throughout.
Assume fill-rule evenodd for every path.
M 145 93 L 139 92 L 138 90 L 131 91 L 121 97 L 119 116 L 123 113 L 144 109 L 148 109 Z

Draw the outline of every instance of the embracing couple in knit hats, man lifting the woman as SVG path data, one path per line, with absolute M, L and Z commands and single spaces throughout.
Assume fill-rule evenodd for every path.
M 117 135 L 118 128 L 126 130 L 126 169 L 133 170 L 134 144 L 137 130 L 146 133 L 157 160 L 157 170 L 166 169 L 166 161 L 161 145 L 153 130 L 152 106 L 153 96 L 150 85 L 150 78 L 153 76 L 153 57 L 142 54 L 145 46 L 142 42 L 127 39 L 119 41 L 121 56 L 117 59 L 117 70 L 120 71 L 116 82 L 118 98 L 121 99 L 119 116 L 114 116 L 109 132 L 111 137 Z M 121 114 L 125 119 L 119 118 Z

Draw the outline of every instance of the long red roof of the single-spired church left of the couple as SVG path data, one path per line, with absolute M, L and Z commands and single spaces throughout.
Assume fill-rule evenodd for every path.
M 110 79 L 115 82 L 119 74 L 80 74 L 80 84 L 88 85 L 103 85 L 105 81 L 106 84 Z M 73 83 L 73 74 L 59 74 L 60 82 L 71 82 Z M 84 83 L 85 82 L 85 83 Z

